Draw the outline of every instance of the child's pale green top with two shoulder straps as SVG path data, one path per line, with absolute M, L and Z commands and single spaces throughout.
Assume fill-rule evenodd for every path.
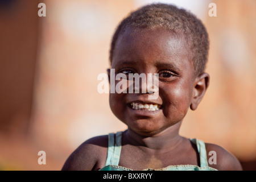
M 108 138 L 109 143 L 106 164 L 100 171 L 133 171 L 133 169 L 118 166 L 122 148 L 122 131 L 119 131 L 116 134 L 110 133 Z M 196 144 L 197 151 L 199 152 L 200 167 L 189 164 L 172 165 L 160 169 L 147 168 L 143 169 L 143 171 L 217 171 L 217 169 L 208 166 L 205 143 L 198 139 L 191 139 L 191 141 Z

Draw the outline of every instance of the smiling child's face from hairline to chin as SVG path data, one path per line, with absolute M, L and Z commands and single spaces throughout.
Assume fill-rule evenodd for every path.
M 110 93 L 110 108 L 129 129 L 157 134 L 183 120 L 191 105 L 195 69 L 183 36 L 166 30 L 124 32 L 115 44 L 115 73 L 159 73 L 159 97 L 148 93 Z M 115 82 L 117 84 L 118 81 Z M 159 110 L 136 110 L 131 104 L 157 104 Z

